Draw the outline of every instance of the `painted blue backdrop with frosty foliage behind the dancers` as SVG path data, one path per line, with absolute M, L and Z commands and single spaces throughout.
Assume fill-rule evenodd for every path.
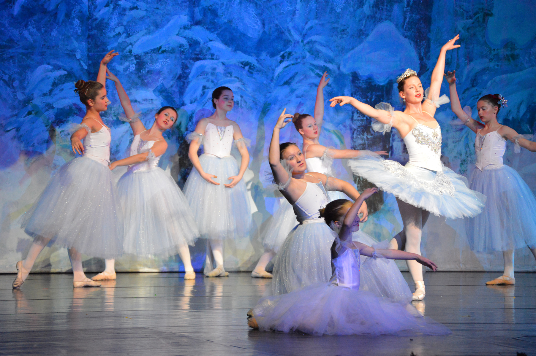
M 332 78 L 325 99 L 352 95 L 376 104 L 401 103 L 397 75 L 411 67 L 429 84 L 441 46 L 459 33 L 461 48 L 452 50 L 446 68 L 455 69 L 462 105 L 474 108 L 482 94 L 501 93 L 508 108 L 500 121 L 532 134 L 536 120 L 536 6 L 527 0 L 441 1 L 2 1 L 0 31 L 0 272 L 14 271 L 31 241 L 20 230 L 20 217 L 47 184 L 50 175 L 75 156 L 69 137 L 84 107 L 73 82 L 95 79 L 102 56 L 120 56 L 109 68 L 123 82 L 146 125 L 162 105 L 178 110 L 178 124 L 166 133 L 169 148 L 163 169 L 182 187 L 191 170 L 185 133 L 210 115 L 210 95 L 218 86 L 235 94 L 236 120 L 252 140 L 251 163 L 244 179 L 255 203 L 251 236 L 226 246 L 229 270 L 248 270 L 262 253 L 258 230 L 277 207 L 266 191 L 266 151 L 271 129 L 282 108 L 312 113 L 316 86 L 324 71 Z M 103 113 L 112 128 L 111 157 L 123 158 L 132 139 L 115 88 Z M 446 82 L 443 93 L 448 94 Z M 449 125 L 449 105 L 436 115 L 443 130 L 443 162 L 467 175 L 474 163 L 474 134 Z M 335 147 L 389 149 L 404 160 L 396 132 L 382 137 L 370 130 L 370 119 L 352 108 L 325 110 L 321 141 Z M 287 127 L 284 140 L 299 142 Z M 536 158 L 522 152 L 508 162 L 536 189 Z M 337 163 L 338 175 L 351 180 Z M 121 171 L 115 172 L 119 176 Z M 386 239 L 400 229 L 392 196 L 363 229 Z M 450 270 L 500 269 L 498 254 L 474 255 L 441 218 L 425 229 L 425 253 Z M 203 262 L 204 244 L 192 249 L 195 267 Z M 534 263 L 525 251 L 516 265 Z M 84 266 L 98 270 L 102 261 L 86 257 Z M 125 256 L 120 270 L 177 270 L 178 257 L 138 260 Z M 70 268 L 64 249 L 47 248 L 36 270 Z

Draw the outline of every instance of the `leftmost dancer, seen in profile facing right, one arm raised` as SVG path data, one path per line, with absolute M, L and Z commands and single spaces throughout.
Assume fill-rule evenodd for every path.
M 112 50 L 101 60 L 96 81 L 79 80 L 75 84 L 86 114 L 71 136 L 71 145 L 74 153 L 83 156 L 61 166 L 25 214 L 22 228 L 34 241 L 26 259 L 17 262 L 13 288 L 24 283 L 49 241 L 69 249 L 75 287 L 101 285 L 84 274 L 82 253 L 108 259 L 121 254 L 122 212 L 108 169 L 110 129 L 100 117 L 109 103 L 106 66 L 116 55 Z

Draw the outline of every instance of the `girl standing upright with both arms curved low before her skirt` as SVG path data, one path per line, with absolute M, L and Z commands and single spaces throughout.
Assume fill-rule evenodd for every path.
M 188 157 L 195 169 L 184 185 L 199 233 L 207 239 L 207 277 L 229 275 L 224 268 L 223 240 L 247 236 L 251 226 L 248 191 L 242 180 L 249 164 L 249 140 L 242 137 L 238 124 L 226 117 L 234 106 L 232 90 L 216 88 L 212 106 L 214 113 L 199 120 L 195 131 L 188 135 Z M 240 169 L 230 155 L 233 140 L 242 155 Z M 202 144 L 204 153 L 198 157 L 197 150 Z

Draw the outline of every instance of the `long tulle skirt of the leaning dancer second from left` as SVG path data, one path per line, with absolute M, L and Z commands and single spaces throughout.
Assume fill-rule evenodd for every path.
M 117 191 L 124 212 L 124 253 L 175 255 L 177 246 L 193 245 L 199 237 L 184 194 L 161 168 L 126 172 Z

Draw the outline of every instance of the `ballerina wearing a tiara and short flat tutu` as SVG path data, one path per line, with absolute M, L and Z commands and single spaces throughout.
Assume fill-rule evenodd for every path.
M 433 213 L 448 218 L 473 217 L 482 211 L 485 197 L 467 188 L 465 178 L 441 163 L 441 128 L 434 119 L 436 108 L 448 98 L 440 98 L 446 51 L 458 48 L 459 35 L 447 42 L 440 51 L 432 72 L 430 88 L 422 89 L 417 73 L 406 70 L 398 79 L 398 91 L 406 104 L 403 111 L 380 103 L 376 108 L 353 97 L 337 96 L 331 106 L 351 104 L 364 115 L 372 117 L 375 131 L 384 133 L 394 127 L 403 137 L 410 160 L 405 166 L 379 156 L 362 156 L 349 161 L 352 171 L 374 183 L 381 190 L 394 194 L 404 223 L 405 251 L 421 253 L 422 227 Z M 422 102 L 423 95 L 427 95 Z M 444 99 L 442 99 L 444 98 Z M 392 240 L 393 247 L 396 246 Z M 415 282 L 414 300 L 425 297 L 422 265 L 407 261 Z

